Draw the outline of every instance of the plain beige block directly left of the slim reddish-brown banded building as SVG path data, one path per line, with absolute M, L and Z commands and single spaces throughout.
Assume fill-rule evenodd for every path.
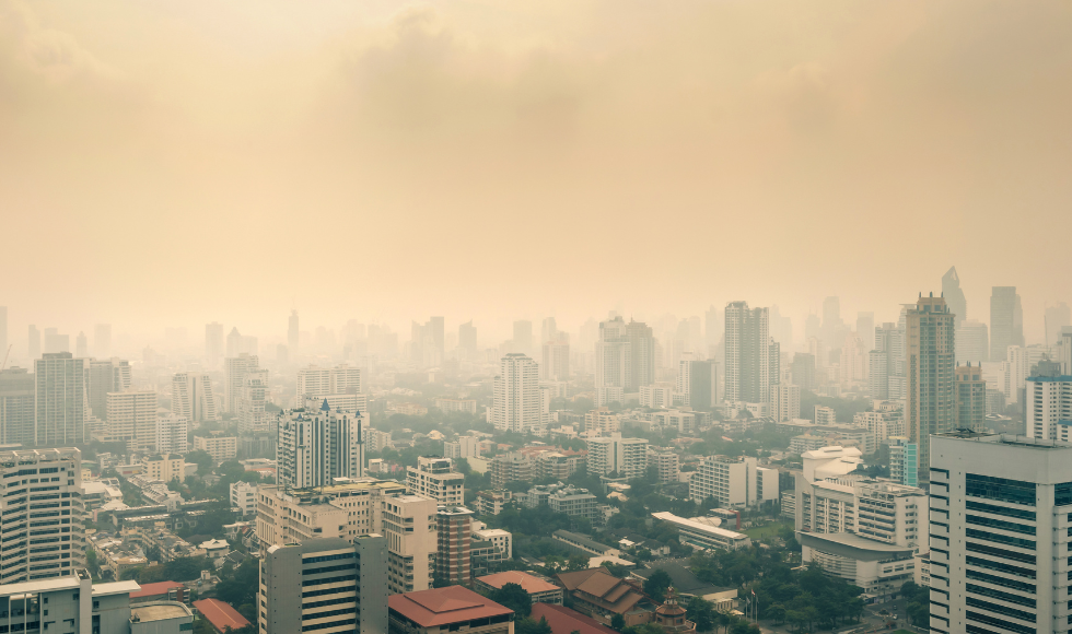
M 392 595 L 432 587 L 439 505 L 420 495 L 392 495 L 383 501 L 383 535 L 387 539 L 387 591 Z

